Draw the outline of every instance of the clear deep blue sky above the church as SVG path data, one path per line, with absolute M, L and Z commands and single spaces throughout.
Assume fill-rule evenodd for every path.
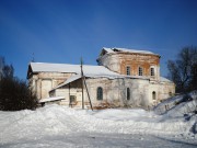
M 0 56 L 26 79 L 30 61 L 97 65 L 103 47 L 166 62 L 197 46 L 197 0 L 0 0 Z

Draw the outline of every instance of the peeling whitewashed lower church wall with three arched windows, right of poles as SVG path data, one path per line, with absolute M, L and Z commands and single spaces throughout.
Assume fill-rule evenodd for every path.
M 88 88 L 93 101 L 93 106 L 101 104 L 111 106 L 141 106 L 150 109 L 164 99 L 174 94 L 174 83 L 172 82 L 155 82 L 150 83 L 144 79 L 88 79 Z M 103 101 L 97 101 L 96 90 L 103 88 Z M 130 99 L 127 100 L 127 88 L 130 89 Z M 152 98 L 152 92 L 155 92 L 155 100 Z M 171 93 L 170 93 L 171 92 Z

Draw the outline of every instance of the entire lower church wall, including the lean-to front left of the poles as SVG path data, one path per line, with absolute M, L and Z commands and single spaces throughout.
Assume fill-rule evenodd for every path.
M 150 109 L 158 104 L 163 99 L 170 96 L 170 92 L 174 94 L 174 84 L 171 82 L 150 83 L 146 79 L 108 79 L 108 78 L 86 78 L 88 91 L 91 98 L 92 105 L 95 109 L 100 107 L 143 107 Z M 103 100 L 97 100 L 97 88 L 103 89 Z M 130 90 L 130 96 L 127 98 L 127 88 Z M 155 92 L 155 99 L 152 92 Z M 51 93 L 53 94 L 53 93 Z M 67 84 L 63 88 L 55 90 L 55 96 L 65 96 L 60 104 L 69 105 L 69 94 L 76 96 L 73 106 L 82 106 L 82 88 L 81 79 Z M 51 95 L 53 96 L 53 95 Z M 84 87 L 84 104 L 90 109 L 90 102 Z

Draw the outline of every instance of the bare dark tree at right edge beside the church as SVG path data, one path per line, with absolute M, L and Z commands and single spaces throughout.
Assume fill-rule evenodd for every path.
M 184 47 L 176 60 L 169 60 L 169 77 L 176 84 L 177 92 L 195 90 L 196 83 L 197 47 Z

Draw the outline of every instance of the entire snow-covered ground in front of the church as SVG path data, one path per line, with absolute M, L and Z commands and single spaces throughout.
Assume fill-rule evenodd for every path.
M 46 105 L 0 112 L 0 147 L 196 147 L 197 115 L 169 117 L 141 109 L 90 111 Z

